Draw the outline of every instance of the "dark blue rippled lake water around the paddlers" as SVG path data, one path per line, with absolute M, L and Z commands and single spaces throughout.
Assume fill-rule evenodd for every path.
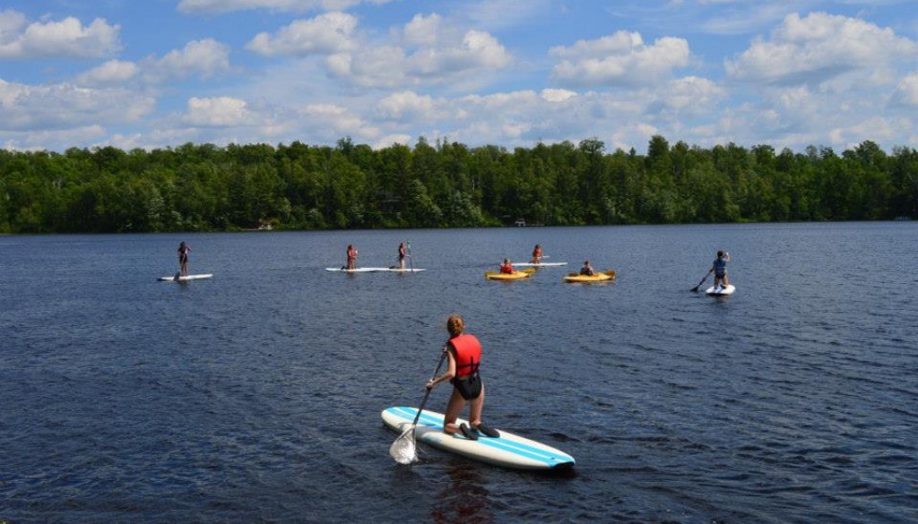
M 212 280 L 155 281 L 180 240 Z M 400 240 L 427 272 L 323 270 Z M 571 266 L 485 280 L 535 243 Z M 736 294 L 690 293 L 719 249 Z M 916 254 L 915 223 L 0 237 L 0 521 L 913 523 Z M 562 284 L 586 258 L 617 281 Z M 388 456 L 453 312 L 487 421 L 573 474 Z

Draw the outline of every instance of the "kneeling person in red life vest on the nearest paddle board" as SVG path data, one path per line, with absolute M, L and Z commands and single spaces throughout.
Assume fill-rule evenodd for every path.
M 481 375 L 478 373 L 481 366 L 481 342 L 475 335 L 465 334 L 465 321 L 459 315 L 450 315 L 446 319 L 446 330 L 450 332 L 450 340 L 443 348 L 449 359 L 446 373 L 431 378 L 425 386 L 431 390 L 446 381 L 453 385 L 453 394 L 443 417 L 443 432 L 450 435 L 461 432 L 466 439 L 471 440 L 478 440 L 476 433 L 497 439 L 500 436 L 498 430 L 481 422 L 481 412 L 485 407 L 485 385 L 481 383 Z M 468 421 L 471 429 L 465 423 L 456 426 L 456 418 L 466 402 L 469 405 Z

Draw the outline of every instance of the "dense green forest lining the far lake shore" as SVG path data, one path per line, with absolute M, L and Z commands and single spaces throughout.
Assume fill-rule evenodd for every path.
M 650 140 L 498 146 L 420 139 L 153 151 L 0 151 L 0 232 L 443 228 L 918 216 L 918 151 L 776 152 Z

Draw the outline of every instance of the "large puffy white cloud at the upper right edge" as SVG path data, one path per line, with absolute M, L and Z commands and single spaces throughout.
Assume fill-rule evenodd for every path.
M 878 70 L 918 57 L 918 46 L 857 18 L 812 13 L 789 15 L 768 40 L 757 39 L 733 61 L 727 75 L 741 82 L 823 84 L 846 72 L 866 70 L 874 84 Z M 848 85 L 848 84 L 846 84 Z

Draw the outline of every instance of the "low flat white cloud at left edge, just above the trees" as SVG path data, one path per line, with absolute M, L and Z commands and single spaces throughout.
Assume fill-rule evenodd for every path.
M 155 101 L 123 89 L 72 84 L 26 85 L 0 80 L 0 122 L 5 129 L 61 129 L 136 123 Z

